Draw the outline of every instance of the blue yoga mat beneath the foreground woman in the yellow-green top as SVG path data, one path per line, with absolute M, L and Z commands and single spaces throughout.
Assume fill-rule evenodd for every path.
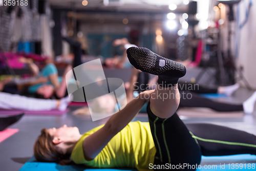
M 223 162 L 226 162 L 224 165 Z M 227 164 L 227 161 L 230 163 L 236 161 L 236 164 Z M 240 162 L 243 162 L 240 164 Z M 211 164 L 212 163 L 220 163 L 220 164 Z M 253 162 L 253 163 L 245 163 L 245 162 Z M 204 165 L 203 163 L 207 163 Z M 254 164 L 254 169 L 252 168 Z M 236 169 L 236 167 L 239 169 Z M 27 161 L 19 171 L 118 171 L 118 170 L 130 170 L 135 171 L 134 169 L 114 169 L 114 168 L 87 168 L 84 165 L 66 165 L 61 166 L 57 163 L 45 163 L 45 162 L 36 162 L 35 158 L 32 157 L 29 161 Z M 233 155 L 233 156 L 216 156 L 216 157 L 202 157 L 201 169 L 197 169 L 198 171 L 202 170 L 215 170 L 215 171 L 223 171 L 223 170 L 256 170 L 256 156 L 254 155 Z

